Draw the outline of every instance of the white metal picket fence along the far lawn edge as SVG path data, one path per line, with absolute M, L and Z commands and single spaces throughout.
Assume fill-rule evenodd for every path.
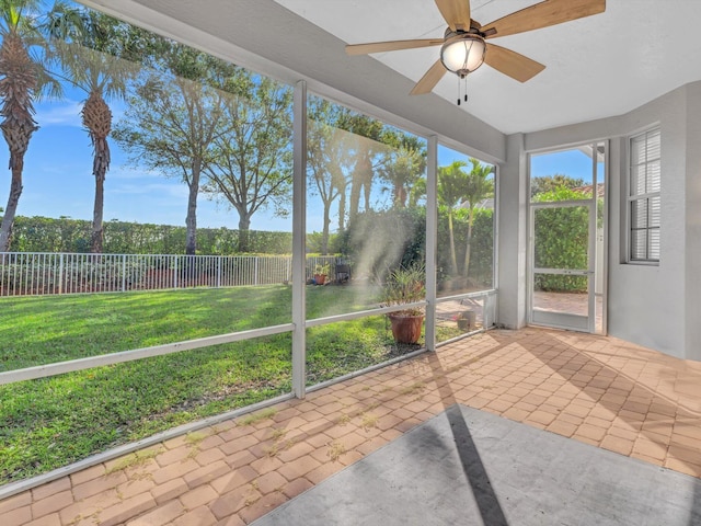
M 169 255 L 0 252 L 0 296 L 271 285 L 291 279 L 289 255 Z M 307 258 L 307 278 L 335 256 Z

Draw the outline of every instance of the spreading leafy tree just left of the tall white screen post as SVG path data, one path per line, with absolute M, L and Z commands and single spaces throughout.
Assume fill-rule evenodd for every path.
M 228 79 L 223 119 L 231 133 L 215 138 L 203 190 L 239 214 L 239 251 L 249 251 L 251 217 L 269 205 L 288 214 L 292 182 L 292 91 L 237 68 Z

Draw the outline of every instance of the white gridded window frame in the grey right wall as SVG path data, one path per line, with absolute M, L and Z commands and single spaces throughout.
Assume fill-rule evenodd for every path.
M 656 137 L 656 138 L 655 138 Z M 657 150 L 659 155 L 657 157 L 648 157 L 651 150 L 651 138 L 657 141 Z M 635 141 L 643 142 L 643 151 L 645 155 L 645 159 L 642 162 L 634 162 L 633 160 L 633 144 Z M 662 258 L 662 132 L 659 126 L 654 126 L 652 128 L 645 129 L 635 135 L 631 135 L 628 139 L 628 176 L 627 176 L 627 192 L 625 192 L 625 263 L 635 264 L 635 265 L 659 265 L 659 261 Z M 648 167 L 651 164 L 657 163 L 659 165 L 658 175 L 656 176 L 655 185 L 657 187 L 654 192 L 645 192 L 636 193 L 635 185 L 633 184 L 633 170 L 640 169 L 641 167 L 644 170 L 644 173 L 647 173 Z M 645 182 L 647 184 L 647 181 Z M 659 202 L 659 218 L 657 221 L 654 221 L 653 214 L 650 213 L 651 202 L 653 199 L 658 199 Z M 645 221 L 645 226 L 640 228 L 633 225 L 633 204 L 645 202 L 647 205 L 647 219 Z M 644 258 L 636 258 L 633 254 L 633 239 L 636 232 L 644 231 L 645 241 L 644 241 Z M 651 232 L 657 231 L 657 253 L 654 254 L 652 249 L 653 243 L 651 241 Z M 655 258 L 656 255 L 656 258 Z

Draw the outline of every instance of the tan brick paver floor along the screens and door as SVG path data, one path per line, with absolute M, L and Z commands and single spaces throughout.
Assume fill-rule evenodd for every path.
M 12 525 L 241 525 L 456 402 L 701 477 L 701 363 L 491 331 L 0 501 Z

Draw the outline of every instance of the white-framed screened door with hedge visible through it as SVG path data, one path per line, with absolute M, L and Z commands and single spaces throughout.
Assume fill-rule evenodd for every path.
M 531 156 L 532 324 L 605 332 L 604 161 L 604 142 Z

